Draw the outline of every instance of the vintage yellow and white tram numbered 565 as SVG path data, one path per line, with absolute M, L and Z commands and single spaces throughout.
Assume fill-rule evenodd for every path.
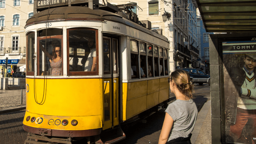
M 115 143 L 125 138 L 120 124 L 169 99 L 164 36 L 113 5 L 70 3 L 46 5 L 26 23 L 25 143 Z M 114 129 L 113 139 L 100 135 Z

